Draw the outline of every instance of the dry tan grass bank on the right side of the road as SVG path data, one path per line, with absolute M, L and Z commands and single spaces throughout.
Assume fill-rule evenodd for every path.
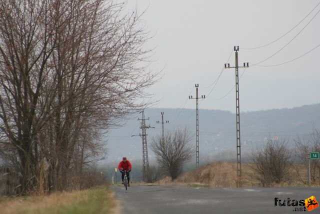
M 252 163 L 242 163 L 243 187 L 262 186 L 259 180 L 254 176 Z M 190 186 L 208 186 L 208 187 L 236 187 L 236 163 L 214 162 L 202 165 L 192 171 L 181 174 L 177 179 L 171 181 L 170 177 L 165 177 L 157 184 L 186 184 Z M 302 164 L 291 166 L 290 174 L 287 180 L 282 183 L 272 183 L 271 186 L 302 186 L 306 184 L 306 168 Z

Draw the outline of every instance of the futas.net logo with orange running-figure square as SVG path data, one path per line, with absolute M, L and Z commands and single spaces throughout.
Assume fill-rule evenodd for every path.
M 304 200 L 290 199 L 279 199 L 278 197 L 274 198 L 274 206 L 291 206 L 292 211 L 311 211 L 319 206 L 315 197 L 312 195 Z

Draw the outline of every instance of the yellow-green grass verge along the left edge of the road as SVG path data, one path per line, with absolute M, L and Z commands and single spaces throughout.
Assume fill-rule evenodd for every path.
M 0 198 L 1 214 L 114 213 L 117 203 L 106 186 L 73 192 L 56 192 L 47 196 Z

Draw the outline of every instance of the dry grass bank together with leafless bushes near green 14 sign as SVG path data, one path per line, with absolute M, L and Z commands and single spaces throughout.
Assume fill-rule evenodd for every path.
M 286 139 L 271 138 L 252 148 L 242 162 L 241 186 L 305 186 L 307 183 L 307 153 L 320 151 L 320 131 L 313 128 L 309 136 L 297 137 L 294 146 Z M 320 184 L 320 159 L 310 161 L 310 185 Z M 162 174 L 158 184 L 187 184 L 189 186 L 235 187 L 236 162 L 215 161 L 184 172 L 172 179 Z

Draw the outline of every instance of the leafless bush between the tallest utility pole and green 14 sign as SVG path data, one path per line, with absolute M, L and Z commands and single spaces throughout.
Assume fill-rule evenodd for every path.
M 262 148 L 251 153 L 253 165 L 252 176 L 269 186 L 271 183 L 280 183 L 289 178 L 291 166 L 291 151 L 287 148 L 285 140 L 268 140 Z

